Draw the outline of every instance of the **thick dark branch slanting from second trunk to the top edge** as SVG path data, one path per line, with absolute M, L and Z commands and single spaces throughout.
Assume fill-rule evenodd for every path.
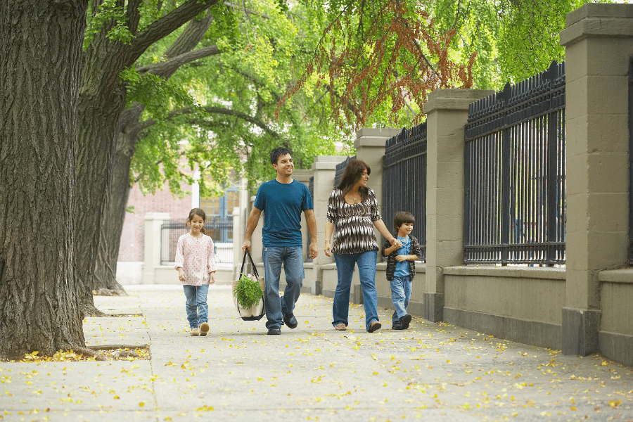
M 217 3 L 219 3 L 219 0 L 188 0 L 170 13 L 167 13 L 167 15 L 155 20 L 132 41 L 127 58 L 128 65 L 132 65 L 156 41 L 167 37 L 167 35 L 193 19 L 198 13 Z

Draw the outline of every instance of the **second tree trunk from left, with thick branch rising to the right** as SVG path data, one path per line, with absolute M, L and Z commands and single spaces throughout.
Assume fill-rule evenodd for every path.
M 0 0 L 2 1 L 2 0 Z M 58 0 L 60 1 L 60 0 Z M 122 130 L 120 118 L 125 104 L 125 86 L 121 71 L 134 65 L 155 41 L 162 39 L 218 0 L 188 0 L 167 15 L 136 33 L 141 0 L 118 1 L 126 6 L 126 25 L 136 37 L 130 44 L 112 41 L 108 31 L 117 23 L 109 22 L 91 40 L 84 53 L 82 88 L 79 95 L 79 138 L 77 142 L 77 200 L 75 219 L 75 271 L 82 282 L 80 300 L 86 314 L 100 314 L 94 307 L 92 292 L 99 286 L 95 279 L 99 242 L 108 205 L 108 186 L 113 177 L 116 137 Z M 93 2 L 93 13 L 103 7 Z M 98 287 L 99 288 L 99 287 Z

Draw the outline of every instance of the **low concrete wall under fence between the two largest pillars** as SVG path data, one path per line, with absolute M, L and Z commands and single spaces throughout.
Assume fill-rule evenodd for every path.
M 562 268 L 444 269 L 445 321 L 499 338 L 561 349 Z

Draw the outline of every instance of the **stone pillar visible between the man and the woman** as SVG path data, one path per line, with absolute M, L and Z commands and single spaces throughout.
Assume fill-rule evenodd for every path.
M 320 295 L 323 288 L 323 265 L 334 262 L 333 257 L 327 257 L 325 248 L 325 223 L 328 212 L 328 198 L 334 188 L 336 165 L 345 161 L 347 157 L 338 155 L 319 155 L 314 158 L 312 174 L 314 175 L 313 194 L 314 215 L 316 217 L 316 237 L 319 245 L 319 255 L 312 261 L 312 294 Z M 307 276 L 307 274 L 306 274 Z

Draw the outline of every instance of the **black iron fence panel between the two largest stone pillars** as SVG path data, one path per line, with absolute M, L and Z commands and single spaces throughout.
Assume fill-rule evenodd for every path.
M 472 103 L 466 263 L 565 262 L 565 63 Z

